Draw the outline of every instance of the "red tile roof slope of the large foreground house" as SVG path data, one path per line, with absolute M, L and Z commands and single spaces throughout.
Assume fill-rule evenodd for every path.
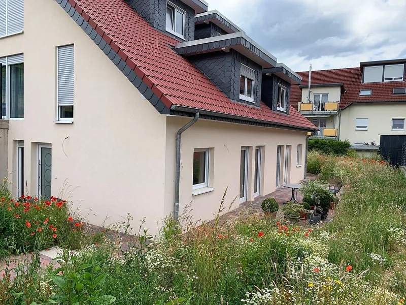
M 124 0 L 69 0 L 167 106 L 181 105 L 304 129 L 315 129 L 297 110 L 285 115 L 229 100 L 171 46 L 177 40 L 156 31 Z

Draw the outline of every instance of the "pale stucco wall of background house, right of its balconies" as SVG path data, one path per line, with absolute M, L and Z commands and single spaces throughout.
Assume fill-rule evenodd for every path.
M 404 103 L 352 104 L 341 111 L 340 139 L 349 139 L 352 144 L 375 141 L 380 143 L 379 134 L 405 134 L 392 131 L 392 118 L 405 118 Z M 368 118 L 368 130 L 355 130 L 357 118 Z

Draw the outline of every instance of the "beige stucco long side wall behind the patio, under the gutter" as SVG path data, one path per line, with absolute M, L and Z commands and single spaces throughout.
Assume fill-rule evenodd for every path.
M 176 132 L 191 118 L 168 117 L 166 131 L 166 167 L 165 167 L 165 214 L 174 206 L 175 150 Z M 303 166 L 296 167 L 297 144 L 302 144 L 302 164 L 306 132 L 287 131 L 221 123 L 199 119 L 195 125 L 182 134 L 181 175 L 180 175 L 180 212 L 191 203 L 194 220 L 213 219 L 221 203 L 221 198 L 228 187 L 225 206 L 240 204 L 240 154 L 241 147 L 249 147 L 248 160 L 248 200 L 254 199 L 254 160 L 253 151 L 262 146 L 262 177 L 260 195 L 266 195 L 276 189 L 276 160 L 278 145 L 292 145 L 290 158 L 290 182 L 303 179 Z M 195 148 L 211 148 L 211 165 L 209 187 L 213 192 L 192 196 L 193 151 Z M 282 156 L 283 157 L 283 156 Z M 283 159 L 282 159 L 283 160 Z M 284 160 L 282 161 L 282 175 Z

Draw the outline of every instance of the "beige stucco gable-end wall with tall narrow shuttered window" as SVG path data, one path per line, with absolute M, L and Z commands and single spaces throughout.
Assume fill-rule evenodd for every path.
M 163 217 L 166 118 L 52 0 L 26 0 L 24 33 L 0 39 L 0 57 L 24 53 L 22 121 L 10 120 L 9 172 L 16 194 L 16 140 L 25 141 L 25 177 L 37 191 L 38 143 L 52 145 L 52 193 L 64 182 L 93 224 Z M 75 44 L 75 121 L 55 124 L 56 47 Z

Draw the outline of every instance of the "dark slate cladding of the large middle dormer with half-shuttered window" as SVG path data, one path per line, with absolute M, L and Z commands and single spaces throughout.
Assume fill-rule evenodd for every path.
M 230 99 L 247 105 L 260 106 L 262 68 L 251 59 L 235 50 L 230 52 L 217 51 L 188 57 L 196 66 Z M 255 70 L 254 102 L 240 99 L 241 64 Z

